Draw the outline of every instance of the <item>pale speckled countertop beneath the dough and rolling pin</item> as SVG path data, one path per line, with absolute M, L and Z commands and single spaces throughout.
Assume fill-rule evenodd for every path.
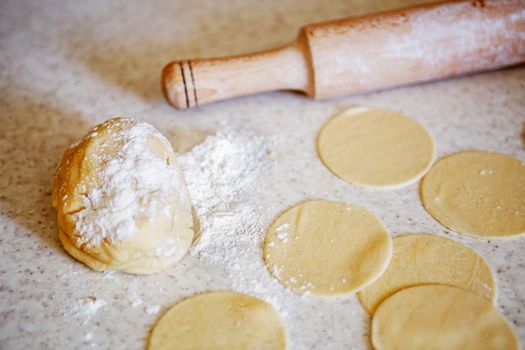
M 171 59 L 266 49 L 308 22 L 417 2 L 1 1 L 0 348 L 141 349 L 177 300 L 231 288 L 220 266 L 191 256 L 163 273 L 131 276 L 91 271 L 61 248 L 50 204 L 54 168 L 67 145 L 115 115 L 151 122 L 175 144 L 225 124 L 282 136 L 254 199 L 267 208 L 268 224 L 297 201 L 327 198 L 366 206 L 394 235 L 426 231 L 466 243 L 494 269 L 499 308 L 525 343 L 525 238 L 450 232 L 425 212 L 417 184 L 395 191 L 346 184 L 322 166 L 314 144 L 335 111 L 364 104 L 421 122 L 438 157 L 483 149 L 525 161 L 524 67 L 324 102 L 269 93 L 177 111 L 160 94 L 159 72 Z M 366 321 L 355 296 L 301 303 L 285 319 L 291 348 L 367 348 L 366 322 L 353 319 Z

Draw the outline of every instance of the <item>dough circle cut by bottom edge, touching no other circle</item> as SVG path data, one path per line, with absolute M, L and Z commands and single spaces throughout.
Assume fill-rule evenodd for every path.
M 148 349 L 285 348 L 286 333 L 272 306 L 245 294 L 213 292 L 183 300 L 164 314 Z

